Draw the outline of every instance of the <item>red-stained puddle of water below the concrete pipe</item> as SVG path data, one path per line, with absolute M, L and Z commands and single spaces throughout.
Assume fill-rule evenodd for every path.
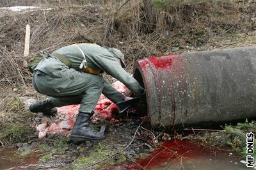
M 164 141 L 147 158 L 110 169 L 246 169 L 228 150 L 210 149 L 189 140 Z

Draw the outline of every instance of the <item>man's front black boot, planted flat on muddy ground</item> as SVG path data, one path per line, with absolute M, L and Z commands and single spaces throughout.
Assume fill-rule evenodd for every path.
M 91 113 L 88 112 L 79 112 L 76 118 L 76 123 L 72 129 L 70 139 L 75 141 L 97 141 L 103 139 L 104 128 L 100 129 L 100 132 L 95 132 L 90 127 L 90 117 Z

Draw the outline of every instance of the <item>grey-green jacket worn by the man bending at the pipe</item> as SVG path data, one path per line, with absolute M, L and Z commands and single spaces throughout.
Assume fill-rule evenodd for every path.
M 100 47 L 95 43 L 79 43 L 61 47 L 60 49 L 55 50 L 52 53 L 58 53 L 67 57 L 72 63 L 72 68 L 81 72 L 81 68 L 79 68 L 79 66 L 83 61 L 84 56 L 81 50 L 77 47 L 77 45 L 83 51 L 87 61 L 87 65 L 90 68 L 102 70 L 103 72 L 112 75 L 113 77 L 115 77 L 115 79 L 125 84 L 125 86 L 130 89 L 135 95 L 137 95 L 138 97 L 143 97 L 143 95 L 145 94 L 144 88 L 142 88 L 138 81 L 136 81 L 134 77 L 129 75 L 129 73 L 127 73 L 124 68 L 122 68 L 122 66 L 118 62 L 116 62 L 116 58 L 108 51 L 108 49 L 104 47 Z M 36 67 L 36 69 L 40 70 L 38 66 Z M 57 69 L 59 70 L 60 68 L 56 68 L 56 71 L 58 72 Z M 45 72 L 45 70 L 42 71 Z M 54 70 L 51 70 L 51 72 L 54 72 Z M 102 91 L 102 93 L 115 103 L 119 102 L 118 100 L 120 100 L 120 98 L 125 97 L 124 95 L 116 91 L 115 88 L 110 86 L 109 83 L 104 83 L 104 90 Z

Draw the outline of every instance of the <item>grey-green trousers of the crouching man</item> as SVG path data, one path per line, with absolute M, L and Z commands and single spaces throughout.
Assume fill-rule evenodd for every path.
M 33 73 L 33 86 L 38 93 L 50 96 L 56 107 L 81 104 L 81 112 L 94 110 L 104 87 L 102 77 L 68 68 L 52 57 L 39 64 Z

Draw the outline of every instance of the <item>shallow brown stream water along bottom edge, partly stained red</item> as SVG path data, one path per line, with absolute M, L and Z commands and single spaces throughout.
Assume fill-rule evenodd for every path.
M 40 160 L 45 153 L 31 152 L 20 157 L 17 149 L 0 149 L 0 169 L 68 169 L 67 157 Z M 207 148 L 189 140 L 164 141 L 147 158 L 108 169 L 248 169 L 230 150 Z M 65 163 L 66 162 L 66 163 Z

